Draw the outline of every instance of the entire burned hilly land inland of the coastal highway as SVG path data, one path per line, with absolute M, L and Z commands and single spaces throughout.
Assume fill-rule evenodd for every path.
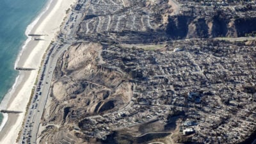
M 256 47 L 241 36 L 255 35 L 255 8 L 79 0 L 59 35 L 73 43 L 53 71 L 40 143 L 252 141 Z

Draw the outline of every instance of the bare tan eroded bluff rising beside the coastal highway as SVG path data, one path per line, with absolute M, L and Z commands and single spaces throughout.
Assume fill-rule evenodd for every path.
M 99 44 L 77 44 L 58 60 L 41 143 L 63 139 L 83 143 L 83 133 L 70 130 L 79 129 L 86 117 L 108 115 L 131 100 L 129 76 L 118 68 L 107 67 L 101 52 Z

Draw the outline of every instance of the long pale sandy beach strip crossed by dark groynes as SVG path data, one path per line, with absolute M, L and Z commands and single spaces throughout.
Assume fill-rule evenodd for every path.
M 0 132 L 0 143 L 13 144 L 20 131 L 22 121 L 26 112 L 26 106 L 31 95 L 31 90 L 36 81 L 36 75 L 47 47 L 54 40 L 56 33 L 60 30 L 61 22 L 66 16 L 66 10 L 70 8 L 76 0 L 50 0 L 47 7 L 30 33 L 44 35 L 43 40 L 29 40 L 22 50 L 17 61 L 17 67 L 36 68 L 33 71 L 21 71 L 17 78 L 17 83 L 4 102 L 8 104 L 6 109 L 12 111 L 23 111 L 19 114 L 8 114 L 8 120 Z

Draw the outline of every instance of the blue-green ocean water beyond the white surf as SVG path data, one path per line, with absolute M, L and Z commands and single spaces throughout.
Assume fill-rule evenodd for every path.
M 46 3 L 47 0 L 0 0 L 0 100 L 11 90 L 19 75 L 14 67 L 28 38 L 25 31 Z M 0 122 L 2 120 L 3 115 L 0 115 Z

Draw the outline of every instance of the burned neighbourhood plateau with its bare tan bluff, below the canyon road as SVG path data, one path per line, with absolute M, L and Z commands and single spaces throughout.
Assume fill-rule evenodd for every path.
M 40 143 L 233 144 L 255 138 L 253 44 L 186 40 L 151 51 L 75 44 L 54 71 Z M 195 131 L 184 136 L 188 127 Z

